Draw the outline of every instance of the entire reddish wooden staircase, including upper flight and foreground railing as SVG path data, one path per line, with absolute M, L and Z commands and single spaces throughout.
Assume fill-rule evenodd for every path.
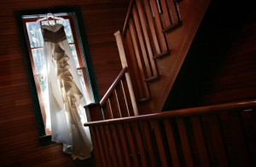
M 97 166 L 255 166 L 256 102 L 160 112 L 210 2 L 131 1 L 123 70 L 85 108 Z

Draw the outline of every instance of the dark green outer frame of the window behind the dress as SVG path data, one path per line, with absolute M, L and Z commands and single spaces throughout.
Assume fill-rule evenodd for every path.
M 81 55 L 83 56 L 82 62 L 84 62 L 84 66 L 88 77 L 88 80 L 90 82 L 90 90 L 92 93 L 92 99 L 94 99 L 95 102 L 100 101 L 100 96 L 99 96 L 99 91 L 97 89 L 96 85 L 96 77 L 95 77 L 95 72 L 94 72 L 94 67 L 92 64 L 92 60 L 90 57 L 90 47 L 89 43 L 87 41 L 87 37 L 85 34 L 85 29 L 84 29 L 84 24 L 83 24 L 83 18 L 82 18 L 82 13 L 81 9 L 79 7 L 61 7 L 61 8 L 54 8 L 54 9 L 32 9 L 32 10 L 19 10 L 15 11 L 15 19 L 17 23 L 17 28 L 19 31 L 19 36 L 20 36 L 20 45 L 22 49 L 22 53 L 24 55 L 24 61 L 25 61 L 25 67 L 26 67 L 26 73 L 28 77 L 28 83 L 29 83 L 29 88 L 31 90 L 31 95 L 32 95 L 32 103 L 34 107 L 34 112 L 35 112 L 35 118 L 36 118 L 36 123 L 37 123 L 37 128 L 38 128 L 38 135 L 39 135 L 39 141 L 41 145 L 48 145 L 49 143 L 52 143 L 50 141 L 51 136 L 45 134 L 44 130 L 44 121 L 43 121 L 43 116 L 41 112 L 41 107 L 40 103 L 38 101 L 38 91 L 36 87 L 36 83 L 34 81 L 34 74 L 32 71 L 32 62 L 30 59 L 30 49 L 27 46 L 26 43 L 26 29 L 23 26 L 23 20 L 22 16 L 23 15 L 36 15 L 36 14 L 48 14 L 48 13 L 73 13 L 74 17 L 74 24 L 72 27 L 73 31 L 76 31 L 76 33 L 73 33 L 73 35 L 79 36 L 78 39 L 80 40 L 80 46 L 79 50 L 81 52 Z M 76 37 L 75 37 L 76 38 Z M 83 53 L 83 54 L 82 54 Z M 80 60 L 79 60 L 80 62 Z M 81 63 L 81 62 L 80 62 Z M 84 70 L 82 71 L 84 74 Z

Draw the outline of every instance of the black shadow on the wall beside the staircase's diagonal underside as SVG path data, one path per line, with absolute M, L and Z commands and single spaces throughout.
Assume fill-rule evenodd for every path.
M 255 16 L 253 0 L 215 0 L 210 3 L 163 111 L 205 106 L 213 80 L 225 66 L 241 27 Z M 253 13 L 254 12 L 254 13 Z

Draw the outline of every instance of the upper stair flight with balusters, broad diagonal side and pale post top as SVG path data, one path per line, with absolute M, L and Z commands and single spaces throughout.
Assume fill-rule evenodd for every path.
M 161 111 L 209 2 L 131 1 L 125 26 L 114 35 L 139 114 Z

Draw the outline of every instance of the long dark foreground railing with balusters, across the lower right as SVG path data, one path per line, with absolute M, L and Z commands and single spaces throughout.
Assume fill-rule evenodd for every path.
M 256 101 L 84 124 L 97 166 L 255 166 Z

